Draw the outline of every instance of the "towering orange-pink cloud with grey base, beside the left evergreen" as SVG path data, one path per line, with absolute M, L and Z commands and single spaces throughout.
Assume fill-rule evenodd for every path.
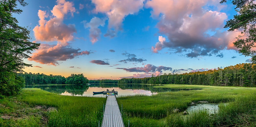
M 91 51 L 80 51 L 69 46 L 69 41 L 73 40 L 73 33 L 76 32 L 74 25 L 63 23 L 64 17 L 76 11 L 72 2 L 57 0 L 50 11 L 52 15 L 45 11 L 38 10 L 38 25 L 34 27 L 34 36 L 36 41 L 57 41 L 56 45 L 41 44 L 31 56 L 29 61 L 35 61 L 41 64 L 58 65 L 60 61 L 73 59 L 80 55 L 89 55 Z M 49 20 L 45 20 L 49 18 Z

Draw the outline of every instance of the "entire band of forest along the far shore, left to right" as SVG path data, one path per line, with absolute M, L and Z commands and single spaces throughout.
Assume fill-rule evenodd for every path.
M 149 78 L 122 78 L 120 80 L 88 80 L 83 74 L 60 75 L 18 73 L 26 85 L 34 84 L 197 84 L 211 86 L 256 86 L 256 65 L 236 64 L 225 68 L 184 74 L 153 75 Z

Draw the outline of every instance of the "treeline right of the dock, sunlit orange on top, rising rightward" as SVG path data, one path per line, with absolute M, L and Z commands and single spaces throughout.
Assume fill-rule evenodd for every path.
M 150 78 L 122 78 L 119 84 L 197 84 L 212 86 L 256 86 L 256 65 L 236 64 L 218 70 L 163 74 Z

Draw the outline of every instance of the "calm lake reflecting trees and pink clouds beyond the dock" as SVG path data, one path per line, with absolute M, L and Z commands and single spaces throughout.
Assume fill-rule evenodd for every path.
M 179 90 L 200 90 L 200 89 L 178 89 L 178 88 L 155 88 L 144 84 L 91 84 L 91 85 L 37 85 L 25 86 L 25 88 L 40 88 L 48 92 L 58 93 L 67 96 L 91 96 L 105 97 L 103 94 L 93 95 L 93 92 L 106 91 L 107 89 L 118 92 L 117 96 L 131 96 L 143 94 L 151 96 L 158 92 L 179 91 Z

